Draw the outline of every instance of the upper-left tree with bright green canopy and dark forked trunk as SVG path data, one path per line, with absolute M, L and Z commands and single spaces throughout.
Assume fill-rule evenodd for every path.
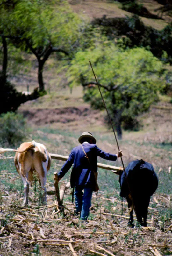
M 44 91 L 43 68 L 52 52 L 68 55 L 79 35 L 80 20 L 67 1 L 17 0 L 0 11 L 0 36 L 38 60 L 39 90 Z

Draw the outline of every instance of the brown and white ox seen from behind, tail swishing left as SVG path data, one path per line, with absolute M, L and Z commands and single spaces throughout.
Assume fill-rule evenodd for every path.
M 33 140 L 32 142 L 22 143 L 17 150 L 11 148 L 0 148 L 0 153 L 7 151 L 16 152 L 14 163 L 24 184 L 24 202 L 22 205 L 28 205 L 29 185 L 32 185 L 34 170 L 38 174 L 43 190 L 43 201 L 46 203 L 46 176 L 51 165 L 51 157 L 47 148 L 43 144 L 37 143 Z

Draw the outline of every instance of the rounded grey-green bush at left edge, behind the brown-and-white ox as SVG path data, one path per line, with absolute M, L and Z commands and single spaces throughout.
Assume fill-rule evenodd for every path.
M 15 146 L 26 136 L 26 122 L 21 114 L 7 112 L 0 115 L 0 144 Z

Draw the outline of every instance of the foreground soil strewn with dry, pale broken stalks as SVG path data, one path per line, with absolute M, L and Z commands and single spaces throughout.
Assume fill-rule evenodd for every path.
M 5 171 L 1 175 L 5 176 Z M 10 178 L 16 179 L 12 175 Z M 71 198 L 69 190 L 65 193 Z M 171 255 L 171 223 L 166 222 L 164 225 L 157 216 L 158 211 L 153 208 L 155 202 L 163 209 L 168 208 L 170 197 L 154 194 L 149 205 L 151 214 L 147 219 L 148 227 L 137 227 L 134 222 L 135 227 L 130 228 L 127 227 L 127 203 L 120 202 L 117 195 L 117 190 L 110 198 L 105 198 L 102 191 L 98 195 L 93 192 L 93 219 L 82 223 L 74 214 L 75 205 L 69 200 L 64 201 L 65 216 L 58 213 L 58 203 L 54 200 L 52 191 L 47 195 L 47 206 L 38 206 L 31 188 L 30 207 L 24 208 L 20 206 L 20 191 L 9 194 L 4 190 L 0 213 L 3 223 L 0 230 L 0 255 Z M 5 224 L 5 221 L 8 223 Z

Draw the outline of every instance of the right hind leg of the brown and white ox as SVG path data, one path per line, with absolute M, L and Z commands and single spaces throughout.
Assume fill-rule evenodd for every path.
M 46 190 L 47 161 L 43 162 L 41 160 L 42 157 L 40 157 L 39 154 L 40 152 L 35 152 L 34 154 L 34 169 L 38 173 L 39 181 L 42 189 L 42 195 L 40 199 L 43 204 L 47 204 L 47 190 Z

